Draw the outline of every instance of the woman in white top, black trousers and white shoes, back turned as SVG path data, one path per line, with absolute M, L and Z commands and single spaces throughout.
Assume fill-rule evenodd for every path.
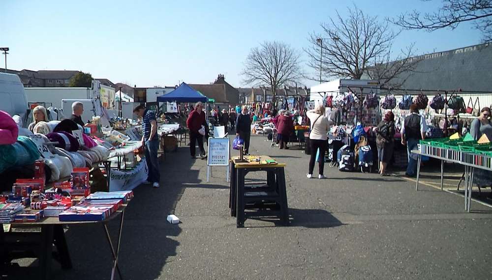
M 330 130 L 331 121 L 325 116 L 325 107 L 323 104 L 318 103 L 314 110 L 306 112 L 307 117 L 311 122 L 311 131 L 309 132 L 309 144 L 311 147 L 311 157 L 309 159 L 309 171 L 307 172 L 307 178 L 312 178 L 312 172 L 314 171 L 314 162 L 316 161 L 316 151 L 319 149 L 319 158 L 322 159 L 318 163 L 319 179 L 326 178 L 323 175 L 323 168 L 325 167 L 325 152 L 328 146 L 327 135 Z

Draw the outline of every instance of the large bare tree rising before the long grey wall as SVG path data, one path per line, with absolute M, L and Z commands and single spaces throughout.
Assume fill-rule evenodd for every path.
M 361 79 L 369 75 L 387 84 L 415 69 L 418 61 L 411 59 L 413 45 L 400 56 L 393 56 L 392 43 L 400 32 L 394 32 L 387 21 L 365 15 L 357 7 L 348 11 L 348 18 L 342 18 L 337 11 L 335 19 L 321 24 L 320 34 L 310 34 L 310 46 L 305 51 L 308 65 L 320 73 L 320 83 L 329 77 Z M 393 60 L 398 63 L 390 63 Z

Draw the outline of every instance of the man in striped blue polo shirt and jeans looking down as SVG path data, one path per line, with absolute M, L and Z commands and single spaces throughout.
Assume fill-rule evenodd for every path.
M 157 150 L 159 149 L 159 137 L 157 136 L 157 119 L 153 111 L 139 105 L 133 109 L 133 113 L 142 118 L 142 146 L 145 147 L 145 160 L 149 168 L 147 182 L 154 188 L 159 187 L 160 173 Z

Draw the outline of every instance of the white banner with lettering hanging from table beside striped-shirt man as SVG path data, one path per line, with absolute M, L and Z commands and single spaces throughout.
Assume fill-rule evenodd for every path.
M 148 174 L 149 168 L 147 168 L 147 162 L 145 160 L 142 160 L 131 170 L 111 169 L 109 191 L 133 190 L 147 180 Z

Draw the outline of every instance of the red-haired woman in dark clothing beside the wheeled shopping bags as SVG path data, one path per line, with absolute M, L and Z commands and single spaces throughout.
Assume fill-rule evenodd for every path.
M 386 168 L 395 148 L 395 115 L 393 112 L 388 111 L 375 130 L 379 173 L 381 176 L 387 176 Z

